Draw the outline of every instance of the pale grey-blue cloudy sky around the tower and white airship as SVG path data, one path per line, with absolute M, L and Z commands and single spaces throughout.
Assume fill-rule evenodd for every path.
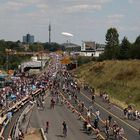
M 35 41 L 66 40 L 105 43 L 107 29 L 115 27 L 120 42 L 140 35 L 140 0 L 0 0 L 0 39 L 22 41 L 30 33 Z M 62 35 L 73 34 L 73 37 Z

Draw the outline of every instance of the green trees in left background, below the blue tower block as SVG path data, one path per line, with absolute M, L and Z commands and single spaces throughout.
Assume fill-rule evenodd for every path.
M 34 44 L 22 44 L 20 41 L 4 41 L 0 40 L 0 69 L 17 69 L 21 62 L 30 59 L 29 55 L 17 55 L 6 52 L 6 49 L 17 52 L 39 52 L 42 50 L 57 51 L 63 50 L 64 47 L 57 43 L 34 43 Z

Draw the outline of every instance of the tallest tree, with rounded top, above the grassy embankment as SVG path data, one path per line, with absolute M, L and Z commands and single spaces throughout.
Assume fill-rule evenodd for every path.
M 106 33 L 105 58 L 116 59 L 119 52 L 119 34 L 116 28 L 110 28 Z

